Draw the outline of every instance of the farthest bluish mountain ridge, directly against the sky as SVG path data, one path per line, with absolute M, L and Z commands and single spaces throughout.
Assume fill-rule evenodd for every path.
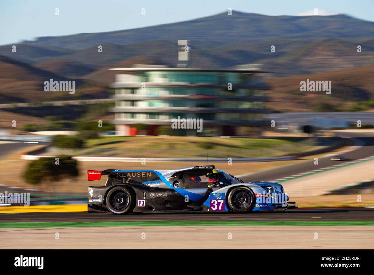
M 228 45 L 269 39 L 362 38 L 374 36 L 374 22 L 347 15 L 267 16 L 233 11 L 184 22 L 105 33 L 81 33 L 68 36 L 39 37 L 25 44 L 40 47 L 85 49 L 113 43 L 126 45 L 152 40 L 188 39 L 191 45 Z

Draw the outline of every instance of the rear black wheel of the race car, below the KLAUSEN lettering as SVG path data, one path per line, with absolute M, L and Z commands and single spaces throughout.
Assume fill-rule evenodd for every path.
M 106 206 L 113 214 L 128 214 L 134 209 L 135 196 L 125 186 L 114 187 L 108 192 Z

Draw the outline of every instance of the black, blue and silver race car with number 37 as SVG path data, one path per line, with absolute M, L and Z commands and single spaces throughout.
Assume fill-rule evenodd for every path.
M 88 170 L 88 180 L 108 175 L 105 186 L 89 186 L 88 212 L 233 211 L 296 208 L 281 184 L 243 182 L 214 165 L 174 170 Z

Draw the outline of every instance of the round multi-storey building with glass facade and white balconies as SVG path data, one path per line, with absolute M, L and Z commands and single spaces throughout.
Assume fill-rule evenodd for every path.
M 117 135 L 249 135 L 267 125 L 263 71 L 162 66 L 113 68 Z M 203 119 L 203 131 L 172 129 L 172 119 Z M 140 127 L 141 126 L 141 127 Z

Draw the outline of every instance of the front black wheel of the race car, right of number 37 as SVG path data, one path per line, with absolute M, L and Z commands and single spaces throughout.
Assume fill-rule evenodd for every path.
M 227 204 L 235 213 L 248 213 L 255 207 L 256 199 L 251 189 L 239 186 L 230 191 Z

